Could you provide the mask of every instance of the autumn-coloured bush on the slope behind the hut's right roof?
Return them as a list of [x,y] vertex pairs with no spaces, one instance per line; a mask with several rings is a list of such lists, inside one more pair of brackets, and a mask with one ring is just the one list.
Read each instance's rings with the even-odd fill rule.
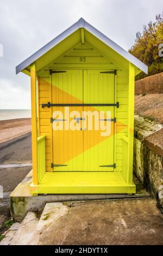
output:
[[[148,66],[148,76],[163,72],[163,13],[144,25],[142,33],[136,33],[135,44],[129,52]],[[146,76],[141,72],[136,80]]]

